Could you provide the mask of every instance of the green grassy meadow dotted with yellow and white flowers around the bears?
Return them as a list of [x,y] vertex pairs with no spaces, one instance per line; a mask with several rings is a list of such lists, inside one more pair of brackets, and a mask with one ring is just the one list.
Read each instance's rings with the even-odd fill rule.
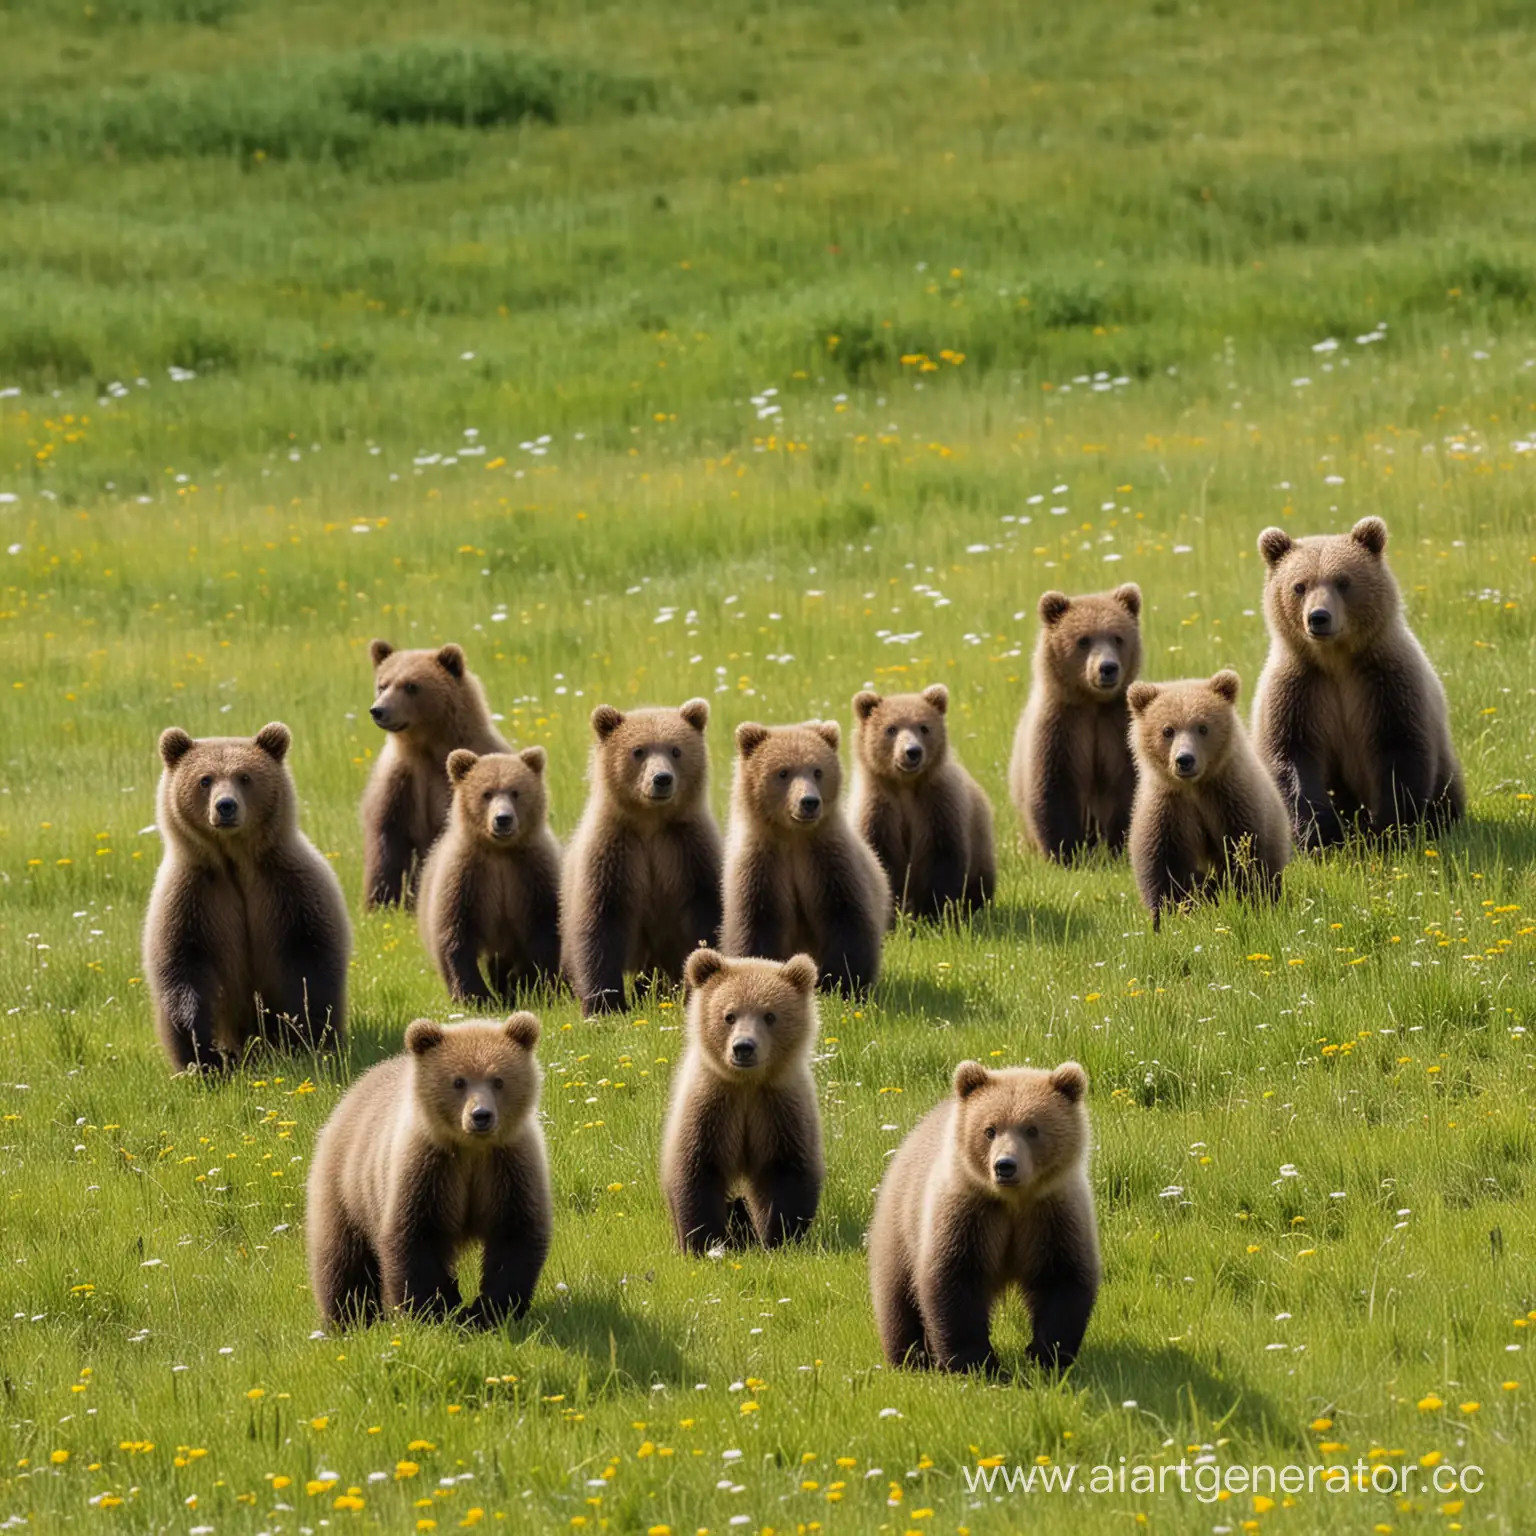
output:
[[[1533,71],[1499,0],[0,0],[0,1528],[1530,1528]],[[1020,852],[1041,590],[1138,581],[1149,676],[1250,688],[1255,536],[1367,513],[1467,825],[1157,937],[1123,865]],[[562,833],[602,700],[707,694],[723,814],[737,722],[949,685],[998,900],[823,1008],[802,1250],[673,1252],[679,1009],[551,997],[527,1322],[315,1332],[315,1132],[444,1017],[358,915],[375,634],[465,645]],[[155,737],[269,719],[358,917],[349,1061],[172,1081]],[[880,1367],[871,1192],[968,1055],[1092,1078],[1058,1382]],[[1200,1456],[1412,1473],[965,1476]]]

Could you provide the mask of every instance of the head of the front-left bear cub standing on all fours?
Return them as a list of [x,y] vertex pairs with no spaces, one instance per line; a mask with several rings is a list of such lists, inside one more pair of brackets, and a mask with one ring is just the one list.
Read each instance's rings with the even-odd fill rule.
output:
[[439,1146],[505,1146],[538,1112],[542,1074],[533,1051],[539,1021],[439,1025],[418,1018],[406,1031],[412,1092],[421,1124]]

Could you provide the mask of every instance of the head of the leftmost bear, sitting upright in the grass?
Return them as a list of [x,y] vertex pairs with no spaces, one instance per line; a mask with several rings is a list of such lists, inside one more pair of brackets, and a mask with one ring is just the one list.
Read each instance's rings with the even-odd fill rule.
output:
[[177,727],[161,733],[161,833],[227,851],[287,836],[298,814],[284,762],[290,742],[289,728],[275,720],[253,737],[194,740]]

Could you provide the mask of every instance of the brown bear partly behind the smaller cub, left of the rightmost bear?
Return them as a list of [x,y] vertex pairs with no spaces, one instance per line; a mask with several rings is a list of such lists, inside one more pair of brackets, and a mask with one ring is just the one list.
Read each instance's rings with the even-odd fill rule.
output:
[[1130,829],[1137,771],[1126,688],[1141,670],[1141,588],[1040,599],[1034,684],[1014,734],[1008,793],[1029,840],[1051,859]]

